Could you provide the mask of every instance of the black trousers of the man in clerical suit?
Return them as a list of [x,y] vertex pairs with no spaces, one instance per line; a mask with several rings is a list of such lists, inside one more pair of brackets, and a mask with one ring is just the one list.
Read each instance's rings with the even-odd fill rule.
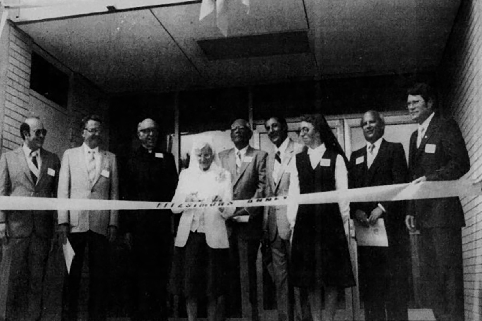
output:
[[170,231],[143,237],[134,235],[133,320],[167,320],[167,283],[171,268],[173,237]]

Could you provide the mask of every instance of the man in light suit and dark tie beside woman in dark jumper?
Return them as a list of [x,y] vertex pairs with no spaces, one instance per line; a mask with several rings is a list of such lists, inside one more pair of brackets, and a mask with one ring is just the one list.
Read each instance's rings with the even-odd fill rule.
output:
[[[269,140],[274,149],[268,155],[266,174],[270,196],[286,196],[290,187],[288,165],[295,161],[295,154],[303,150],[301,144],[288,137],[288,124],[282,117],[271,117],[265,122]],[[288,281],[291,229],[286,217],[286,206],[267,206],[263,220],[264,241],[271,248],[271,276],[276,286],[278,321],[293,320],[293,296]]]

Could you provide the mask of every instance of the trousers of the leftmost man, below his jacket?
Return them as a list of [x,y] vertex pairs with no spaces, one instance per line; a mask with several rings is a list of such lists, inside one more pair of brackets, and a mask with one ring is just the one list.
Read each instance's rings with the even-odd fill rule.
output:
[[[10,238],[2,246],[0,263],[0,320],[16,320],[23,315],[22,320],[35,321],[40,319],[42,282],[45,265],[49,254],[50,241],[31,234],[27,238]],[[25,259],[27,258],[27,262]],[[21,275],[22,267],[28,269],[27,304],[13,310],[15,303],[14,288]]]

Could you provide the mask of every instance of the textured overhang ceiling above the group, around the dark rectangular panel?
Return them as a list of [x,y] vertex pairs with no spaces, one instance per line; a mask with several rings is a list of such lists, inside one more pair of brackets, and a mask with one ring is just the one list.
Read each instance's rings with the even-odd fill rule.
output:
[[460,1],[251,0],[249,14],[228,3],[228,37],[306,31],[308,52],[209,60],[198,41],[226,39],[214,13],[199,21],[198,2],[19,27],[107,93],[166,92],[430,71]]

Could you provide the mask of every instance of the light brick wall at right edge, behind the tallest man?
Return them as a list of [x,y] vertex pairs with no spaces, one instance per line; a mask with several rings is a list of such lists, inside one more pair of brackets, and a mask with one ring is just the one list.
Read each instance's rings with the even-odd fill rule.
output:
[[[441,65],[441,102],[457,120],[469,150],[469,178],[482,179],[482,1],[462,1]],[[482,319],[482,197],[461,199],[466,320]]]

